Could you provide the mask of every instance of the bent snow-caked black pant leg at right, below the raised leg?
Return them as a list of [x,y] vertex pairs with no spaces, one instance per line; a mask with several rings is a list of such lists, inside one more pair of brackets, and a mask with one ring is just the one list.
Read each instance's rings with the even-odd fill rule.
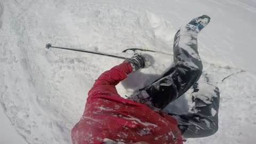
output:
[[193,85],[191,98],[194,106],[187,115],[172,115],[178,121],[179,129],[185,138],[207,137],[218,131],[220,92],[210,84],[207,75],[202,75]]

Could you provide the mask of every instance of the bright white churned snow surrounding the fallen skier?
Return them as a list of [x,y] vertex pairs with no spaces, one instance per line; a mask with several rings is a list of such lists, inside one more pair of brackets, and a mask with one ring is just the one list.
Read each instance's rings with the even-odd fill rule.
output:
[[[255,143],[255,0],[0,0],[0,143],[71,143],[94,79],[122,62],[46,50],[46,43],[126,56],[120,52],[129,47],[172,53],[175,32],[202,14],[212,18],[198,43],[221,91],[219,131],[186,143]],[[121,95],[171,65],[172,57],[149,54],[154,65],[119,84]]]

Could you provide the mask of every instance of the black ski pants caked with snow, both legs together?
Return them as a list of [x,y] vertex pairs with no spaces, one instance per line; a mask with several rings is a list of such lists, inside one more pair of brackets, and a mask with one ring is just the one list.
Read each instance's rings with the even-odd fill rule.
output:
[[178,30],[173,44],[174,65],[161,78],[140,90],[146,92],[148,97],[135,94],[130,98],[140,103],[150,103],[153,109],[163,109],[188,89],[194,89],[191,93],[194,106],[190,112],[185,115],[169,114],[177,119],[185,138],[207,137],[218,131],[220,93],[207,75],[202,75],[197,35],[191,29]]

